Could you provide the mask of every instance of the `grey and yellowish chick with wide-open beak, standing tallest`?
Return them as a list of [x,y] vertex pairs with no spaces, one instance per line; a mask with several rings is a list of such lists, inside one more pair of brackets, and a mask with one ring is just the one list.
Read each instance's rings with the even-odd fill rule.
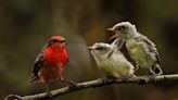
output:
[[110,33],[114,33],[110,39],[119,38],[122,40],[122,43],[118,46],[119,48],[126,42],[128,53],[136,62],[137,67],[150,68],[154,77],[163,74],[160,55],[154,42],[140,34],[135,25],[129,22],[122,22],[109,28],[109,30]]

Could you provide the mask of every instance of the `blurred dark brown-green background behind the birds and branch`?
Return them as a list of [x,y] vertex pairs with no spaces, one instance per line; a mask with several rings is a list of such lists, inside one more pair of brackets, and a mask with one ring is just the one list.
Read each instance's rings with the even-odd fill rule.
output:
[[[46,91],[27,85],[34,61],[52,35],[67,39],[65,78],[85,82],[104,77],[87,46],[107,42],[106,28],[122,21],[157,45],[165,74],[178,72],[177,0],[0,0],[0,100]],[[138,75],[150,74],[140,71]],[[66,86],[51,83],[51,89]],[[61,96],[54,100],[178,100],[178,82],[112,85]]]

